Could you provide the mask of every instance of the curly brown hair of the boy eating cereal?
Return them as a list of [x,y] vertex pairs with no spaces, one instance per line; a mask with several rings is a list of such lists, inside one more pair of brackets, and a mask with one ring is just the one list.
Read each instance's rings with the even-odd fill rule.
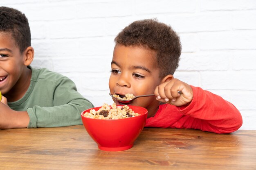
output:
[[115,37],[115,43],[124,46],[142,46],[156,52],[159,78],[174,74],[180,61],[180,37],[171,26],[156,19],[138,20],[126,26]]

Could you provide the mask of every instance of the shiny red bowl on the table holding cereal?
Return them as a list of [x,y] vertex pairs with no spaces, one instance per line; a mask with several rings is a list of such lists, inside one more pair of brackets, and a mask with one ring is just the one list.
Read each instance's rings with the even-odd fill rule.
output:
[[[122,107],[122,105],[117,105]],[[144,128],[148,110],[144,107],[129,106],[139,116],[124,119],[93,119],[83,116],[87,109],[81,113],[83,125],[99,149],[106,151],[121,151],[130,149],[134,141]],[[99,110],[101,107],[91,109]]]

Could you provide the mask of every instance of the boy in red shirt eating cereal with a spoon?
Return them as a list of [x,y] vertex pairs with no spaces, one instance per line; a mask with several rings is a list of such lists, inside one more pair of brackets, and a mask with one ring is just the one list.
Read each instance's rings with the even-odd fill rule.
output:
[[148,109],[145,127],[231,133],[242,126],[242,116],[230,102],[173,77],[181,44],[170,26],[156,20],[135,21],[117,35],[115,43],[110,93],[155,94],[131,103]]

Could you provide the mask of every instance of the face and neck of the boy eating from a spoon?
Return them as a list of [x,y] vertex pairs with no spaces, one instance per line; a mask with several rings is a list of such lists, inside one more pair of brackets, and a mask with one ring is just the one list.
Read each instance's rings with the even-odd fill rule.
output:
[[[159,68],[157,68],[155,51],[138,46],[116,45],[111,62],[109,89],[111,94],[134,96],[154,94],[155,87],[160,84]],[[114,100],[119,105],[121,103]],[[134,100],[131,105],[148,109],[148,117],[153,116],[159,101],[152,97]]]

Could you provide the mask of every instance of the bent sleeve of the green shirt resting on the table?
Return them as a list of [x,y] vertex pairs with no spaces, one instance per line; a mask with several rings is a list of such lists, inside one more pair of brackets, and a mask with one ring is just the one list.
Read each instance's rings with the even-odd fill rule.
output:
[[61,78],[55,86],[53,107],[27,108],[28,128],[81,125],[81,112],[94,107],[76,90],[69,78]]

